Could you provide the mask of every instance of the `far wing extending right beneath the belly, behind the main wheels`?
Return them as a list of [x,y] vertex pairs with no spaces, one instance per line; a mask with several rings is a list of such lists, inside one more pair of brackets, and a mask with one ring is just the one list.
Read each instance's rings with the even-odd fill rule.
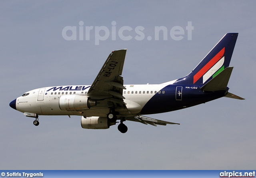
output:
[[[171,123],[171,122],[167,122],[167,121],[153,119],[153,118],[146,117],[146,116],[126,117],[125,120],[139,122],[139,123],[146,124],[146,125],[150,124],[150,125],[153,125],[153,126],[167,125],[167,124],[178,124],[178,123]],[[178,124],[178,125],[180,125],[180,124]]]

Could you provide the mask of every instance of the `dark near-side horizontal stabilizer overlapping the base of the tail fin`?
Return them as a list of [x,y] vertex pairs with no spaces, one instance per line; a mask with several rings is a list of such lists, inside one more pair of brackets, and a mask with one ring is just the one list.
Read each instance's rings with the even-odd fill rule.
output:
[[202,86],[201,89],[205,91],[226,90],[232,69],[233,67],[226,67],[226,69],[216,75],[216,77]]

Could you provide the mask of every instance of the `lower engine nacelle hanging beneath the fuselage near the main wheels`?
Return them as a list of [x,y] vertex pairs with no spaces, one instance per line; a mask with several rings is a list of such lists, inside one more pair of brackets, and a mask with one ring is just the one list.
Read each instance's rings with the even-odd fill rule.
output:
[[86,117],[82,116],[81,126],[84,129],[108,129],[111,125],[116,123],[110,123],[106,117]]

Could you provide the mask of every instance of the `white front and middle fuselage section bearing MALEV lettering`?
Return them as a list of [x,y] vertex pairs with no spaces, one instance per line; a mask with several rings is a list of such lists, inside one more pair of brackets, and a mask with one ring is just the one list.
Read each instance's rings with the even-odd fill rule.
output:
[[[167,84],[159,85],[124,85],[123,90],[124,102],[128,109],[120,109],[117,111],[123,115],[136,115],[140,113],[144,105]],[[109,108],[106,102],[100,101],[97,107],[92,107],[84,111],[62,111],[59,106],[59,99],[64,95],[86,95],[90,85],[73,85],[73,86],[57,86],[44,87],[26,92],[24,95],[16,99],[16,109],[23,113],[36,113],[37,115],[86,115],[106,117]],[[27,94],[29,93],[29,94]],[[100,107],[104,105],[104,107]]]

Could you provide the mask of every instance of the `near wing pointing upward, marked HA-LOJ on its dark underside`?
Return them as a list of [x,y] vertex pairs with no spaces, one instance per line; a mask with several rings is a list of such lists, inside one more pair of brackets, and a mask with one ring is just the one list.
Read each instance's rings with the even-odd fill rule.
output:
[[122,75],[127,49],[112,51],[92,83],[87,95],[92,99],[107,99],[124,104],[122,95],[124,80]]

